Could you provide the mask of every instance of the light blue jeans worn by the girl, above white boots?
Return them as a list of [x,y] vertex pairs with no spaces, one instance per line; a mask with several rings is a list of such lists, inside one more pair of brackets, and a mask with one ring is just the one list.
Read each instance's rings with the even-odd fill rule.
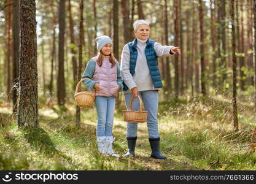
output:
[[96,96],[95,104],[98,116],[97,136],[112,136],[115,97]]

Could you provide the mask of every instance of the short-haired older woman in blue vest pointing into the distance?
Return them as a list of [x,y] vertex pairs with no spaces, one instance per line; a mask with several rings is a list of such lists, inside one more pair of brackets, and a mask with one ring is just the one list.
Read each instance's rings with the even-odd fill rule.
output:
[[[158,132],[158,90],[163,87],[157,57],[180,54],[179,47],[162,46],[149,39],[149,23],[137,20],[133,24],[136,38],[123,47],[121,55],[121,74],[123,77],[126,109],[132,97],[132,110],[139,110],[138,95],[141,96],[147,115],[147,129],[152,150],[151,157],[166,159],[160,152],[160,137]],[[138,123],[127,123],[126,139],[128,152],[125,156],[134,156],[137,140]]]

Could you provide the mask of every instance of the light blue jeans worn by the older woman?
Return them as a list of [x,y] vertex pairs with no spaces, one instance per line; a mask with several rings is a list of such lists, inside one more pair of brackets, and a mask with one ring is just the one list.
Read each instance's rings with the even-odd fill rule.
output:
[[[130,99],[132,98],[132,93],[125,93],[125,104],[126,109],[129,108]],[[139,96],[142,99],[145,110],[147,110],[147,132],[149,133],[149,138],[158,138],[158,92],[157,91],[139,91]],[[139,98],[133,100],[131,105],[132,110],[139,110]],[[137,137],[138,123],[127,123],[126,137]]]

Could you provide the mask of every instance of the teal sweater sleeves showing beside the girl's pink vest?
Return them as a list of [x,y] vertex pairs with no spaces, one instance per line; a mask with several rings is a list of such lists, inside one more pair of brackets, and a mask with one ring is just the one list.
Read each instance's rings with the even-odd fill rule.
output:
[[[93,78],[93,74],[95,72],[95,61],[93,61],[93,59],[90,59],[90,61],[88,61],[87,66],[85,68],[85,71],[83,72],[83,76],[82,79],[88,78],[89,80],[85,80],[83,81],[83,85],[87,86],[90,90],[95,90],[95,88],[93,87],[95,85],[95,83],[97,82],[96,80],[91,80]],[[120,72],[120,66],[118,64],[118,62],[115,62],[115,64],[117,65],[117,85],[120,86],[120,89],[118,91],[122,91],[123,90],[123,79],[121,76],[121,72]]]

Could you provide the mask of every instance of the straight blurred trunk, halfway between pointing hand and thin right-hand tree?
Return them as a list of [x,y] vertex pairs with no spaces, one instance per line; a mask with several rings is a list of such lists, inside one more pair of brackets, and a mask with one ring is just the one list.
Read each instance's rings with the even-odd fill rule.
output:
[[200,20],[200,58],[201,58],[201,93],[206,96],[206,75],[204,66],[204,13],[203,1],[199,0],[199,20]]

